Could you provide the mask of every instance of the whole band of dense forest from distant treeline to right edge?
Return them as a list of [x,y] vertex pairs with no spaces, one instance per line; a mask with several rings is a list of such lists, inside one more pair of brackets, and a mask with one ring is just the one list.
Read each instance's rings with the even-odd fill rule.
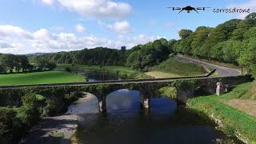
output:
[[148,70],[150,66],[166,60],[172,52],[190,54],[199,58],[229,62],[246,66],[251,74],[256,71],[256,13],[245,19],[231,19],[214,28],[199,26],[192,30],[180,30],[179,40],[164,38],[126,50],[108,48],[84,49],[56,54],[44,54],[40,58],[57,63],[77,63],[86,65],[121,65],[134,70]]

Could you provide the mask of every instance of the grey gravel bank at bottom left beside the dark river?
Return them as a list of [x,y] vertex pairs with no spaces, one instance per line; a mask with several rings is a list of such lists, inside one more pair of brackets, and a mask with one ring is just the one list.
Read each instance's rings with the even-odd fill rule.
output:
[[71,143],[70,138],[78,128],[75,114],[63,114],[56,117],[42,118],[22,139],[20,144],[30,143]]

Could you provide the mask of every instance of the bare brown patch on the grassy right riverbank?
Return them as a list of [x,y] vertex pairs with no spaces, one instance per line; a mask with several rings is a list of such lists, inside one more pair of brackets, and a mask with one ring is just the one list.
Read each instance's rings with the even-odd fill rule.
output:
[[246,114],[256,116],[256,101],[246,99],[231,99],[228,105],[246,112]]

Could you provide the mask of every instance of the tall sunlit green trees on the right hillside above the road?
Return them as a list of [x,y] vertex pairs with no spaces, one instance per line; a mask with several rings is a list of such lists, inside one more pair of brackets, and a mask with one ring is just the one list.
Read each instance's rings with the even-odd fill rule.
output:
[[240,64],[255,76],[256,13],[244,20],[231,19],[214,28],[199,26],[194,32],[181,30],[179,34],[182,39],[171,44],[174,52]]

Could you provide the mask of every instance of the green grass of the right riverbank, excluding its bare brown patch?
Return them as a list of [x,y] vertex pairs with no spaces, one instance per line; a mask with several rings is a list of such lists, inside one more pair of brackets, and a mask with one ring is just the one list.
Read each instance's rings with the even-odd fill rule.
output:
[[198,98],[191,98],[188,106],[193,110],[198,110],[203,114],[211,116],[214,114],[221,118],[223,127],[221,128],[226,134],[234,136],[234,132],[242,134],[248,138],[251,143],[256,142],[256,117],[250,116],[241,110],[228,106],[226,102],[233,98],[250,98],[251,83],[242,84],[230,93],[210,95]]

